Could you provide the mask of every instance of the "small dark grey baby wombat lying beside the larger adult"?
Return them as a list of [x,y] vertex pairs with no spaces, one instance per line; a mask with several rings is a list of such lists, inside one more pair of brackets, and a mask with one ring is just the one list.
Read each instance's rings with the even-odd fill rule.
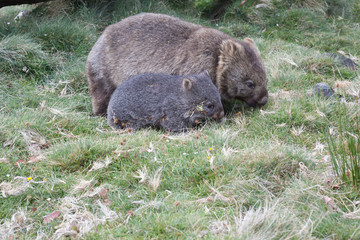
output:
[[110,126],[134,130],[151,126],[179,132],[223,116],[220,94],[206,72],[137,75],[114,91],[107,109]]

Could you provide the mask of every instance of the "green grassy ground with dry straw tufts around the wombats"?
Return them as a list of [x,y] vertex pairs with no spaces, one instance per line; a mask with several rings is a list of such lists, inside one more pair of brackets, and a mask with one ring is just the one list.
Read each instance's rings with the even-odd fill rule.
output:
[[[359,72],[323,54],[359,60],[360,5],[241,2],[217,22],[163,1],[1,9],[0,239],[359,239],[359,192],[327,144],[359,136]],[[254,38],[269,103],[229,104],[222,124],[179,135],[91,116],[87,54],[141,11]],[[313,96],[318,82],[342,100]]]

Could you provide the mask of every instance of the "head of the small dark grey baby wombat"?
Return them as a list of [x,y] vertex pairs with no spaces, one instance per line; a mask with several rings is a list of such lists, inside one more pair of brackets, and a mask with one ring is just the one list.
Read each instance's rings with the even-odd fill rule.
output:
[[182,87],[186,104],[190,106],[190,110],[184,115],[189,127],[194,127],[209,118],[220,121],[224,117],[220,93],[207,72],[186,76],[182,81]]

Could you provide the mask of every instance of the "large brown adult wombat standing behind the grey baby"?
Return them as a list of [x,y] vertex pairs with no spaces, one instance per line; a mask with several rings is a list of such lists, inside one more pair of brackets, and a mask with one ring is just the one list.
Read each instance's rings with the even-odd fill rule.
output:
[[92,48],[86,75],[93,112],[106,113],[112,92],[131,76],[154,72],[172,75],[207,70],[222,100],[249,106],[268,100],[267,79],[253,40],[237,41],[211,28],[153,13],[110,25]]

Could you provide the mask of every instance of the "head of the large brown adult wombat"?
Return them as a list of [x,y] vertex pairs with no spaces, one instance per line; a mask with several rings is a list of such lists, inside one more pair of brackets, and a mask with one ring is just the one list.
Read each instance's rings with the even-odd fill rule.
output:
[[267,103],[265,67],[253,40],[222,42],[216,85],[225,101],[239,99],[251,107]]

